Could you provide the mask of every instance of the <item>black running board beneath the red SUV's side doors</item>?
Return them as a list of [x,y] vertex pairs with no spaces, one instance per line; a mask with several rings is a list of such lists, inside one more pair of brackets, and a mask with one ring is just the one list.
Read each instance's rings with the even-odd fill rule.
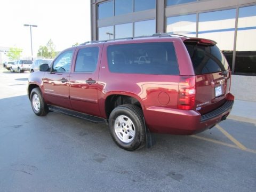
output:
[[67,115],[70,115],[70,116],[86,119],[86,120],[94,122],[94,123],[108,123],[107,119],[100,118],[100,117],[95,117],[95,116],[87,115],[87,114],[83,114],[83,113],[79,113],[79,112],[74,111],[74,110],[69,110],[69,109],[65,109],[65,108],[57,107],[57,106],[52,106],[52,105],[48,105],[48,107],[49,107],[49,110],[51,110],[51,111],[55,111],[55,112],[58,112],[58,113],[67,114]]

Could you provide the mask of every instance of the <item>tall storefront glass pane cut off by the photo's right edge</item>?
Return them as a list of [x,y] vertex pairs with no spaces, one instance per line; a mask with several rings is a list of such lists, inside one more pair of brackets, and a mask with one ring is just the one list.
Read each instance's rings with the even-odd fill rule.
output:
[[239,8],[235,73],[256,74],[256,5]]

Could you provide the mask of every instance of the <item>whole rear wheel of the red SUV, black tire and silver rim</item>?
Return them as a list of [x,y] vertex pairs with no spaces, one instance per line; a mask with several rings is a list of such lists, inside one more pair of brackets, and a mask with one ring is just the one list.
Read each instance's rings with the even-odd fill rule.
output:
[[109,116],[109,131],[122,149],[132,151],[143,147],[146,133],[142,110],[131,104],[116,107]]

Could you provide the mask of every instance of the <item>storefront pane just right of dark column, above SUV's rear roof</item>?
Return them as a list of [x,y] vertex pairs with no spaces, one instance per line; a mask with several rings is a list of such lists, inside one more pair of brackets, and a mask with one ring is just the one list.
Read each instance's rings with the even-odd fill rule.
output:
[[196,14],[182,15],[167,18],[166,32],[185,35],[189,37],[196,36]]

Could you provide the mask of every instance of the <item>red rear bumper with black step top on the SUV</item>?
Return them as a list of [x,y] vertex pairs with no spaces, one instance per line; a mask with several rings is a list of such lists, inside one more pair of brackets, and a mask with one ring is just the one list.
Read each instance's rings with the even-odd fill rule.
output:
[[144,111],[147,127],[151,132],[190,135],[210,129],[227,118],[234,100],[227,100],[222,106],[201,115],[196,110],[149,107]]

